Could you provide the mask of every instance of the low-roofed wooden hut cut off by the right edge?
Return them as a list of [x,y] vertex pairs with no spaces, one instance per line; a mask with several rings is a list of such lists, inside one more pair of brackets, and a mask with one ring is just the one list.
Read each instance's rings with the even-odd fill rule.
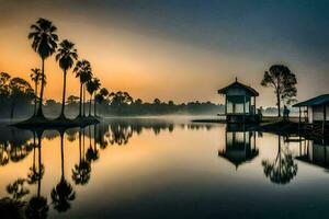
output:
[[293,106],[299,108],[299,124],[310,125],[307,127],[325,134],[329,120],[329,94],[319,95]]

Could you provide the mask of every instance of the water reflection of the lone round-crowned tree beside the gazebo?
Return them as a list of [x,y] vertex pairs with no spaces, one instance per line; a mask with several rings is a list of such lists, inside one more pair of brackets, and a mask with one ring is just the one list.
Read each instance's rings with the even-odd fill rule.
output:
[[287,184],[297,174],[297,163],[294,163],[293,154],[287,149],[281,149],[281,136],[279,136],[277,155],[273,162],[262,161],[264,174],[271,182]]

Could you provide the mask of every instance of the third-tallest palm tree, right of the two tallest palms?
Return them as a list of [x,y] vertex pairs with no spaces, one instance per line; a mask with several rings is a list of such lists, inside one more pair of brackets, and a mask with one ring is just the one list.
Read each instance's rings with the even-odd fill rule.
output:
[[[88,81],[92,79],[92,71],[91,71],[91,65],[88,60],[79,60],[76,64],[76,67],[73,69],[73,72],[76,72],[76,78],[79,78],[80,80],[80,104],[79,104],[79,116],[82,116],[82,89],[83,84],[86,84]],[[83,90],[84,91],[84,90]],[[84,100],[83,100],[84,103]],[[83,115],[84,115],[84,107],[83,107]]]

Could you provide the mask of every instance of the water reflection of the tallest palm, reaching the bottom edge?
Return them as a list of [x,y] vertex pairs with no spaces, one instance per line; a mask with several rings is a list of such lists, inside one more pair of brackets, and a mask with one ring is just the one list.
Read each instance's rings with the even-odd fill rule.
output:
[[37,194],[32,196],[29,200],[25,209],[26,218],[43,219],[47,218],[48,215],[48,201],[46,197],[41,196],[41,183],[44,175],[44,165],[42,164],[42,153],[41,153],[41,135],[38,135],[38,172],[36,174],[37,181]]

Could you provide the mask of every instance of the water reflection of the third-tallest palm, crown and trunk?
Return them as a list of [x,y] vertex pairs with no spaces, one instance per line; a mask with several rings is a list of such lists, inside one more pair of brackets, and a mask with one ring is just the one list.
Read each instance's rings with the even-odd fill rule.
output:
[[[82,154],[84,154],[84,149]],[[90,180],[90,163],[84,160],[84,155],[83,158],[81,155],[81,130],[79,130],[79,164],[76,164],[72,170],[72,180],[77,185],[84,185]]]

